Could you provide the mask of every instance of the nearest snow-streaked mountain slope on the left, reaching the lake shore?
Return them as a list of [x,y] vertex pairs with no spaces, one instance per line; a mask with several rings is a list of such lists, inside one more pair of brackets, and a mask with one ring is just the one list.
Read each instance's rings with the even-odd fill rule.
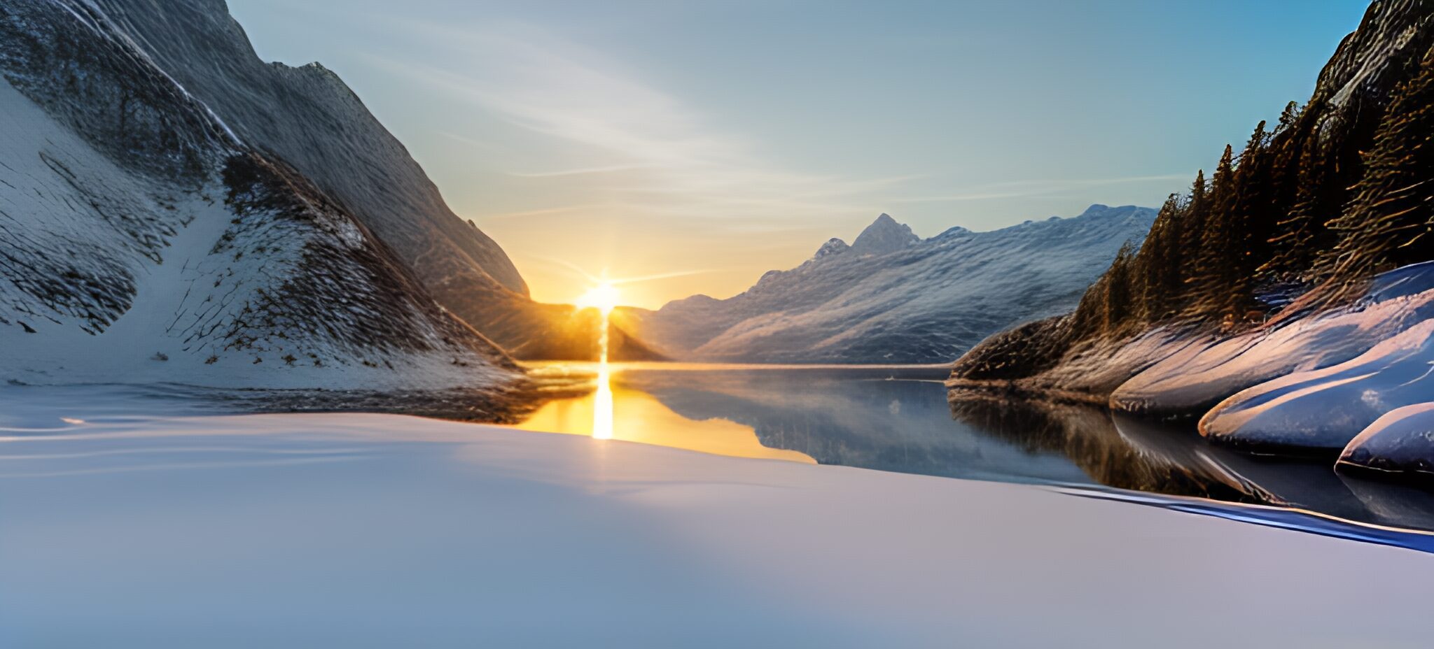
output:
[[92,4],[0,4],[7,380],[499,387],[326,191],[245,143]]

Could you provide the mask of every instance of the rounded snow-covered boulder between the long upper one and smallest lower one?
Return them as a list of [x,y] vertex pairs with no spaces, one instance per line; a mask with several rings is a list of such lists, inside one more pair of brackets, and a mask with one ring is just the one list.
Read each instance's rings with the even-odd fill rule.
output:
[[1240,391],[1200,420],[1200,433],[1240,447],[1335,451],[1385,413],[1431,397],[1434,319],[1427,319],[1349,361]]

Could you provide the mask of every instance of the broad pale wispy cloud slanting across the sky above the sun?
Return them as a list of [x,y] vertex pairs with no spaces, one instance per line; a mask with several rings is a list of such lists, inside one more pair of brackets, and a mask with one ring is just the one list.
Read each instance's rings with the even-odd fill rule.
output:
[[[787,169],[761,146],[713,120],[602,52],[531,24],[455,29],[406,23],[455,50],[452,67],[396,59],[380,64],[518,126],[584,165],[509,170],[525,179],[602,182],[618,202],[675,216],[783,216],[850,209],[912,176],[837,178]],[[465,63],[480,60],[482,66]]]

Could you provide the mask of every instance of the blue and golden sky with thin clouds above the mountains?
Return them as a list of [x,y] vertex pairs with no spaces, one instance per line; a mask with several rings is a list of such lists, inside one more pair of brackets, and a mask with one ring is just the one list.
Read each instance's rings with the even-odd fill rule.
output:
[[334,69],[509,252],[734,294],[889,212],[922,236],[1157,206],[1315,76],[1367,3],[229,0]]

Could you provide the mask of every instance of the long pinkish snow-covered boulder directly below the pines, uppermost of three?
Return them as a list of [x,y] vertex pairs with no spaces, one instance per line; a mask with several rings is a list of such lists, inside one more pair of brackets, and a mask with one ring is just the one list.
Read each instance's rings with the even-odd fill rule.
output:
[[[1172,340],[1162,358],[1123,383],[1110,407],[1139,414],[1189,414],[1289,374],[1331,367],[1434,318],[1434,264],[1380,275],[1355,305],[1232,338]],[[1149,345],[1147,345],[1149,347]]]

